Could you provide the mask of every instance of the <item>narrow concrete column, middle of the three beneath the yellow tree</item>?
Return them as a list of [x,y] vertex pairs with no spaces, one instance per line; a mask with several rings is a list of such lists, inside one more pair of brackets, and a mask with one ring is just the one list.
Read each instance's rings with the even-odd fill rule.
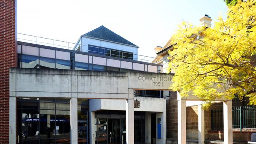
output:
[[198,144],[204,144],[204,110],[198,105]]

